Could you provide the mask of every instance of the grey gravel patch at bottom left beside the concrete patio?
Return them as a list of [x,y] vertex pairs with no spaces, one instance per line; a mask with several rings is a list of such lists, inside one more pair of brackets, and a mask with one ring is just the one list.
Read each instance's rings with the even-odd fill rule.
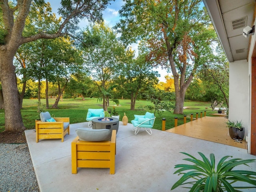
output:
[[39,192],[27,144],[0,144],[0,192]]

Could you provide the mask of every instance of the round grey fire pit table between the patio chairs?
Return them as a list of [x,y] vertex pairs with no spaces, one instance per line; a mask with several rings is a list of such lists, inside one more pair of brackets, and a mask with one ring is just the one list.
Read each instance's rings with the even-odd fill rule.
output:
[[92,119],[92,129],[110,129],[118,132],[119,119],[114,117],[100,117]]

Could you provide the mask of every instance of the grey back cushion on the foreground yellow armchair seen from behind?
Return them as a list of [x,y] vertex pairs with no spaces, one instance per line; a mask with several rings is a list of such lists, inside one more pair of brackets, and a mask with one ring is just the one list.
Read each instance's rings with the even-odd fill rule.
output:
[[109,129],[78,128],[76,134],[82,141],[109,141],[111,139]]

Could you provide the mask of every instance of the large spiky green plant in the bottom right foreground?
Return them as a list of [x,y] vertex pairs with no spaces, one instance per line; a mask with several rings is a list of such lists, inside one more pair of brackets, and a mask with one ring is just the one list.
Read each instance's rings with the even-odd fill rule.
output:
[[[239,192],[239,188],[254,188],[256,186],[256,172],[246,170],[232,170],[238,165],[246,165],[254,162],[255,159],[242,160],[232,156],[224,156],[215,167],[214,154],[210,154],[210,160],[204,154],[198,152],[202,160],[198,160],[190,154],[181,152],[189,156],[183,160],[193,164],[177,164],[174,168],[179,168],[174,174],[182,174],[182,177],[172,186],[171,190],[181,185],[192,185],[190,192]],[[233,186],[235,182],[246,182],[251,184],[247,187]]]

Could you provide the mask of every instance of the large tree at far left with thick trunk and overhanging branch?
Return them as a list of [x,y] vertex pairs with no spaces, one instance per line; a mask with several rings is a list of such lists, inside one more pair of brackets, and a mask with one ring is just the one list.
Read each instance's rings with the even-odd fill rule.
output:
[[[25,129],[13,66],[13,59],[18,48],[24,43],[40,38],[57,38],[64,36],[68,31],[74,32],[79,22],[78,19],[102,20],[101,11],[106,8],[109,0],[62,0],[62,6],[59,9],[62,23],[58,25],[56,32],[45,32],[42,24],[42,28],[38,26],[38,30],[31,31],[31,34],[24,34],[24,28],[28,24],[26,18],[30,13],[31,2],[32,0],[16,0],[14,2],[0,0],[0,78],[5,104],[5,130],[8,131]],[[44,0],[34,2],[37,6],[45,4]]]

